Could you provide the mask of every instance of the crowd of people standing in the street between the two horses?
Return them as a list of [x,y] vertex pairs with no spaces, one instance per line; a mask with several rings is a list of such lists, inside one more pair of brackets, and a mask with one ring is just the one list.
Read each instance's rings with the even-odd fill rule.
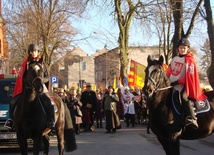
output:
[[[144,94],[138,87],[115,91],[109,86],[103,91],[93,91],[87,83],[83,91],[74,88],[55,91],[70,110],[76,134],[104,127],[106,133],[115,133],[121,128],[121,120],[126,122],[127,128],[148,123]],[[82,115],[77,110],[81,110]]]

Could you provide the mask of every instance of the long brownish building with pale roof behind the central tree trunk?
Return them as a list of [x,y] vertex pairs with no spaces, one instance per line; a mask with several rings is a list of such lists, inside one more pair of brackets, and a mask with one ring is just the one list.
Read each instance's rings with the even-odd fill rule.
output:
[[[162,53],[158,46],[144,46],[144,47],[129,47],[129,64],[131,59],[147,66],[147,57],[151,55],[153,58],[159,58]],[[94,54],[95,62],[95,81],[97,88],[107,88],[113,85],[116,80],[117,85],[120,83],[120,57],[119,48],[112,50],[101,50]],[[129,70],[127,71],[129,74]]]

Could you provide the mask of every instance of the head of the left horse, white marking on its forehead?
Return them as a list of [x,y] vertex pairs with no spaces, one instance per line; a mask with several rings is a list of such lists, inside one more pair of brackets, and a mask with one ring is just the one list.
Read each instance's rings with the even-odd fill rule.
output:
[[36,95],[43,93],[43,76],[44,70],[42,59],[39,61],[32,61],[28,64],[26,72],[26,85],[33,89]]

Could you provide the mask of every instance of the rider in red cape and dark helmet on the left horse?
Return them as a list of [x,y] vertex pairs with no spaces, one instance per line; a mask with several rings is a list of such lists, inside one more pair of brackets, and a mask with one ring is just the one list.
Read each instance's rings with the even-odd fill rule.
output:
[[[30,62],[39,61],[39,59],[41,58],[39,47],[35,44],[30,44],[28,46],[28,54],[29,56],[22,63],[22,66],[19,70],[19,75],[16,79],[16,84],[13,92],[13,99],[10,103],[10,118],[5,122],[4,125],[8,129],[12,129],[14,125],[13,113],[24,88],[23,77],[25,75],[26,70],[28,69],[28,64]],[[46,94],[48,92],[47,88],[49,87],[49,74],[45,66],[45,63],[43,63],[43,67],[44,67],[44,77],[43,77],[44,95],[42,95],[40,99],[47,115],[47,128],[44,130],[43,133],[47,133],[51,130],[52,127],[54,127],[54,106],[52,105],[50,98]]]

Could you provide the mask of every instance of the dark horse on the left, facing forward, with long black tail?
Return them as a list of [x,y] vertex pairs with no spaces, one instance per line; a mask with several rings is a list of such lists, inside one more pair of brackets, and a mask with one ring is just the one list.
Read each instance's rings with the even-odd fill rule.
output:
[[[46,114],[40,100],[40,95],[43,94],[43,75],[41,59],[39,62],[30,63],[26,70],[26,75],[23,77],[24,89],[14,112],[14,125],[22,155],[28,154],[27,139],[33,140],[34,155],[39,154],[42,141],[44,155],[49,152],[49,138],[47,135],[42,136],[46,128]],[[73,151],[76,148],[74,146],[76,143],[71,142],[75,141],[73,130],[65,128],[65,122],[67,122],[65,121],[66,106],[56,94],[53,96],[53,100],[57,107],[55,130],[58,140],[58,152],[62,155],[64,148],[67,151]],[[72,124],[71,118],[70,123]],[[72,137],[73,140],[69,140],[67,137]]]

